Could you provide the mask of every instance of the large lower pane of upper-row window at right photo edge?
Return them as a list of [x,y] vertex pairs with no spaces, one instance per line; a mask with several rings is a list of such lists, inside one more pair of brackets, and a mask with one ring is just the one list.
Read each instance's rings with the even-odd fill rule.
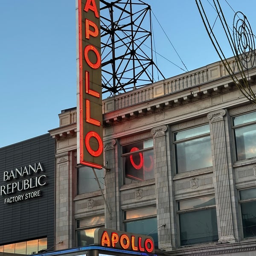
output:
[[237,160],[256,157],[256,124],[235,129]]

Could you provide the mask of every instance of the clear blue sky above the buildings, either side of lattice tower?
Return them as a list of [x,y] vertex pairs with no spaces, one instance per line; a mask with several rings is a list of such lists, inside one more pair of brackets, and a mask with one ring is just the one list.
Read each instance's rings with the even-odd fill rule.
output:
[[[219,61],[195,0],[144,2],[153,12],[154,61],[166,78]],[[230,26],[241,11],[256,33],[255,1],[220,3]],[[76,106],[75,6],[75,0],[0,0],[0,147],[57,128],[61,110]],[[214,21],[214,9],[207,10]]]

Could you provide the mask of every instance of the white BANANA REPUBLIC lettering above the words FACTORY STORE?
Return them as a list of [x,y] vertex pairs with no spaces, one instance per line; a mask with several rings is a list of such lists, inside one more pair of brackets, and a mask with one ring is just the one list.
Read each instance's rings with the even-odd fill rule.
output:
[[[16,168],[9,172],[3,172],[3,181],[13,181],[21,177],[30,176],[33,174],[40,174],[41,172],[44,172],[44,169],[39,162],[33,165]],[[43,174],[35,177],[27,177],[23,180],[10,182],[6,185],[0,186],[0,195],[4,196],[13,194],[17,191],[24,191],[28,189],[38,188],[40,186],[45,186],[47,184],[46,178],[47,176]]]

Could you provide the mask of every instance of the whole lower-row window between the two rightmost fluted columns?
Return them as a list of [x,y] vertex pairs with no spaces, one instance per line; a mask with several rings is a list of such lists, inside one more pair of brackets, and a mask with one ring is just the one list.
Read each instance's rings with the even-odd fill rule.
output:
[[214,196],[178,202],[180,245],[218,241]]

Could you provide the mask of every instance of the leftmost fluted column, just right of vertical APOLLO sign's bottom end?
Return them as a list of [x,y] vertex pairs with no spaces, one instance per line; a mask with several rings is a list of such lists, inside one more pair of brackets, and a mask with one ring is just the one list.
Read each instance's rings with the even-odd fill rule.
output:
[[105,176],[105,195],[108,208],[105,207],[105,227],[116,229],[116,181],[115,181],[115,140],[104,142],[105,162],[107,166]]

